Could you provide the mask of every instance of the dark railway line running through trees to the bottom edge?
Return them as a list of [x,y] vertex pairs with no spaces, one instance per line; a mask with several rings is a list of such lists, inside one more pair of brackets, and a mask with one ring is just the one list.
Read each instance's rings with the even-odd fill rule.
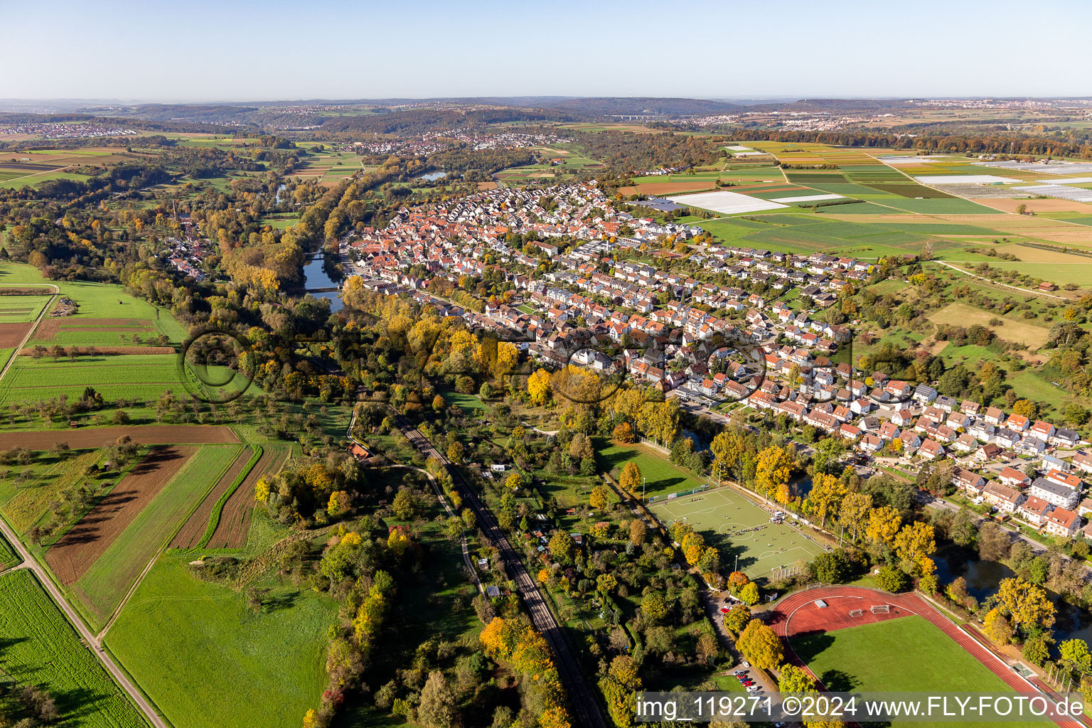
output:
[[[394,410],[392,409],[392,411]],[[538,590],[538,585],[527,574],[527,570],[523,568],[523,562],[520,561],[515,549],[508,542],[505,533],[497,525],[492,513],[490,513],[489,509],[486,508],[485,503],[482,502],[470,485],[463,480],[459,470],[451,467],[451,462],[425,435],[411,427],[397,414],[393,416],[394,422],[402,431],[402,434],[423,455],[435,457],[448,469],[463,497],[463,503],[474,512],[477,525],[489,542],[497,547],[505,562],[505,572],[515,583],[520,598],[531,614],[531,621],[534,623],[535,629],[546,639],[546,642],[549,643],[550,649],[554,651],[558,676],[561,678],[561,684],[565,685],[566,692],[569,694],[569,702],[572,704],[572,709],[575,714],[572,724],[580,726],[580,728],[607,728],[606,723],[603,720],[603,714],[600,713],[595,694],[589,687],[589,680],[579,667],[580,663],[577,655],[566,640],[561,628],[554,619],[554,612],[546,606],[542,593]]]

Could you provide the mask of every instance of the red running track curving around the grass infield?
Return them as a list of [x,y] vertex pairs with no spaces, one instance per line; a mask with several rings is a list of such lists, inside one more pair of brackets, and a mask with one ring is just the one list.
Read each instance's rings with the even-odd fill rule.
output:
[[[977,641],[972,640],[963,632],[961,632],[947,617],[941,614],[933,605],[923,599],[916,594],[888,594],[886,592],[880,592],[878,589],[868,589],[860,586],[826,586],[815,589],[806,589],[804,592],[796,592],[786,596],[778,606],[773,608],[770,618],[770,626],[773,631],[778,633],[778,636],[785,641],[788,647],[788,658],[793,664],[803,667],[808,670],[808,673],[812,678],[816,678],[816,682],[819,679],[811,672],[807,665],[805,665],[796,653],[793,651],[792,643],[788,642],[788,637],[797,634],[799,632],[811,631],[815,628],[815,620],[809,619],[808,624],[805,629],[794,629],[793,628],[793,614],[802,607],[807,607],[811,605],[816,599],[826,599],[830,605],[827,609],[829,610],[831,617],[831,623],[829,630],[839,630],[844,626],[845,619],[844,613],[847,611],[846,601],[858,601],[859,604],[854,604],[851,609],[864,609],[866,613],[869,613],[868,608],[871,605],[889,604],[894,609],[892,609],[892,614],[899,616],[897,612],[917,614],[924,619],[933,622],[941,632],[947,634],[949,637],[956,641],[960,647],[969,652],[975,659],[985,665],[989,670],[1005,681],[1012,690],[1017,692],[1026,693],[1029,692],[1028,683],[1020,678],[1019,675],[1010,669],[1007,669],[994,653],[989,652],[983,647]],[[1032,678],[1032,684],[1035,685],[1042,692],[1049,693],[1051,690],[1038,679]],[[820,685],[822,683],[819,683]],[[1063,720],[1055,719],[1055,723],[1065,728],[1088,728],[1085,724],[1079,723],[1077,720]]]

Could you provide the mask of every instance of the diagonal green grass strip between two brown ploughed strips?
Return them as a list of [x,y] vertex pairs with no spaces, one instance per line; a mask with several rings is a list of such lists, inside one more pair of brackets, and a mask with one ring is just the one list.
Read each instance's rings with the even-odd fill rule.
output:
[[78,606],[95,630],[117,609],[155,552],[235,461],[241,445],[202,445],[117,540],[72,585]]

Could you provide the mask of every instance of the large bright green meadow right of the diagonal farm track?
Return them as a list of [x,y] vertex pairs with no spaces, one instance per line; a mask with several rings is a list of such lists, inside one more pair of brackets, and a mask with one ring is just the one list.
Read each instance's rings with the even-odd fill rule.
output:
[[256,614],[245,594],[191,576],[192,558],[159,558],[106,645],[175,728],[299,725],[327,685],[337,604],[277,585]]

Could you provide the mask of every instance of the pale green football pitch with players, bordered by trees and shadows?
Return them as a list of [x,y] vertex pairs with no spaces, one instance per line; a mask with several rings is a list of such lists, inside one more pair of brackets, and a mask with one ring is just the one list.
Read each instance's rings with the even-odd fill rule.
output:
[[731,488],[717,488],[649,505],[665,525],[685,521],[721,549],[721,564],[751,580],[778,575],[798,561],[811,561],[826,549],[805,536],[792,520],[770,523],[770,513]]

